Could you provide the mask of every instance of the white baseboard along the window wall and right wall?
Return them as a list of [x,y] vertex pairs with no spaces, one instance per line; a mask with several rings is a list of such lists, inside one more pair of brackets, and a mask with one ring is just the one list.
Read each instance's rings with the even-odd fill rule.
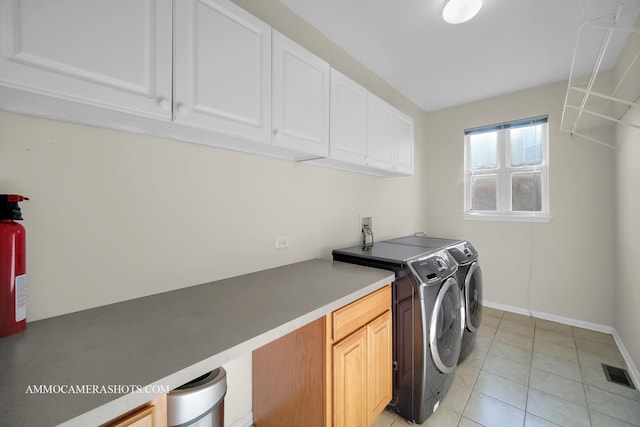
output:
[[631,358],[629,351],[625,347],[624,342],[622,341],[622,338],[618,334],[618,331],[616,331],[616,329],[613,326],[601,325],[599,323],[585,322],[583,320],[572,319],[570,317],[558,316],[555,314],[544,313],[541,311],[528,310],[526,308],[514,307],[506,304],[498,304],[491,301],[483,301],[482,305],[489,308],[495,308],[496,310],[509,311],[511,313],[523,314],[525,316],[531,316],[531,317],[535,317],[543,320],[551,320],[553,322],[563,323],[569,326],[576,326],[578,328],[584,328],[584,329],[589,329],[591,331],[603,332],[605,334],[613,335],[613,339],[615,340],[616,345],[618,346],[618,350],[620,350],[620,353],[622,354],[622,357],[624,358],[624,361],[627,364],[627,370],[629,371],[629,375],[631,376],[631,379],[633,380],[634,385],[636,387],[640,386],[640,372],[638,371],[637,366],[633,362],[633,359]]

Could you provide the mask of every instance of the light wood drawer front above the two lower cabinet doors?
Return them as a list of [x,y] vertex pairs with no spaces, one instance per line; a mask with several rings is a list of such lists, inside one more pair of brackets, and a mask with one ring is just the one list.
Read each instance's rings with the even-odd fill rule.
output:
[[338,342],[391,307],[391,286],[387,285],[332,314],[333,342]]

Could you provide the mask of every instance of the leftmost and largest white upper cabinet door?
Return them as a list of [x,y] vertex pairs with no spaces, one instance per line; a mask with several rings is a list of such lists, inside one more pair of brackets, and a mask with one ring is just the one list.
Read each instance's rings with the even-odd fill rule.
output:
[[0,85],[171,118],[171,0],[0,0]]

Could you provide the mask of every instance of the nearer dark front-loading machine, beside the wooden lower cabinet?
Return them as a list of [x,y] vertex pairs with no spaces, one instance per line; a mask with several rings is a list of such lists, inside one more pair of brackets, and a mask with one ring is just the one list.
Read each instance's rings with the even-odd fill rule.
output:
[[333,259],[395,272],[389,408],[423,423],[449,391],[460,355],[464,307],[457,263],[446,250],[385,242],[334,250]]

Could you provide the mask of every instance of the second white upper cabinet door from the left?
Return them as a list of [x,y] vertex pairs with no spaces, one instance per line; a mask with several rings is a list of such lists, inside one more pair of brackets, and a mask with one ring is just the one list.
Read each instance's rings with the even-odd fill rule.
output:
[[174,120],[271,141],[271,28],[228,0],[179,0]]

